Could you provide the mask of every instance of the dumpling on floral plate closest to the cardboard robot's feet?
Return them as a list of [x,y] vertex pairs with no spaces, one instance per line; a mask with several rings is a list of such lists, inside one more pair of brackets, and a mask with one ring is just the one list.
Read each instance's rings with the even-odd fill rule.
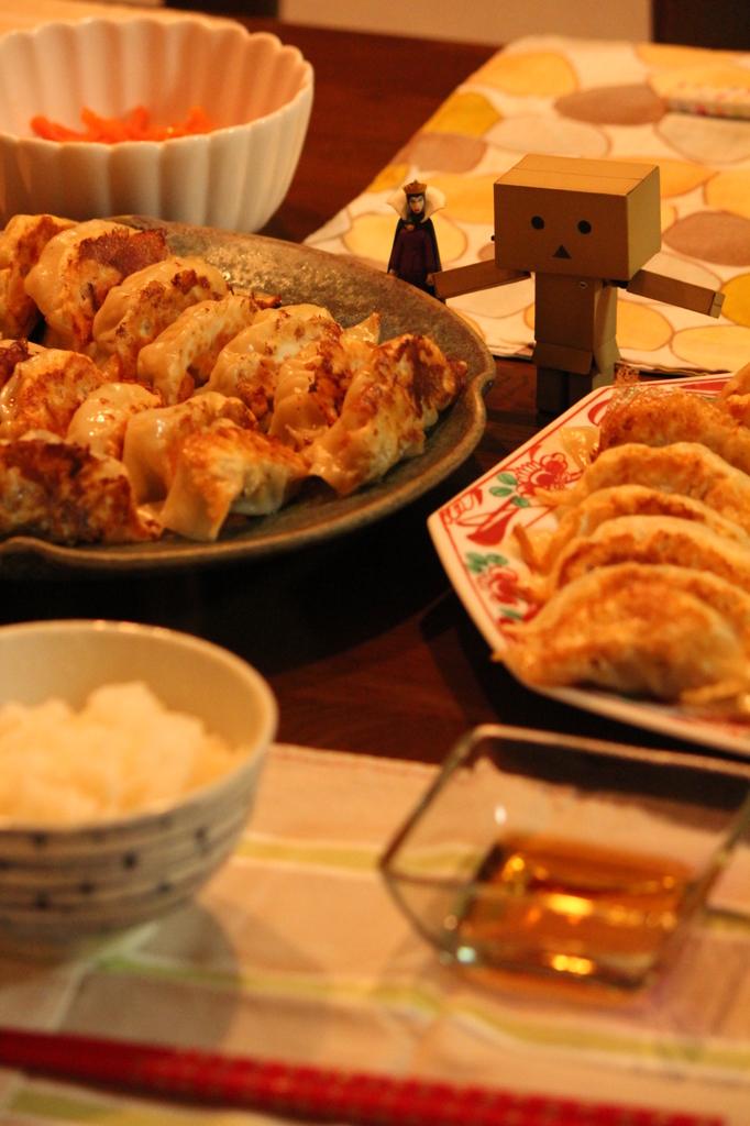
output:
[[599,449],[625,443],[669,446],[696,441],[730,465],[750,472],[750,430],[726,411],[681,387],[627,387],[616,391],[599,428]]

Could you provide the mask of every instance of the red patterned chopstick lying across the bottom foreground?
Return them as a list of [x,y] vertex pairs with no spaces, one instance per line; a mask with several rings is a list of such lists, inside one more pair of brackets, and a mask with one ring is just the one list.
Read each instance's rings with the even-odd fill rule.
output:
[[63,1033],[0,1030],[0,1064],[56,1078],[354,1126],[722,1126],[479,1087],[267,1063]]

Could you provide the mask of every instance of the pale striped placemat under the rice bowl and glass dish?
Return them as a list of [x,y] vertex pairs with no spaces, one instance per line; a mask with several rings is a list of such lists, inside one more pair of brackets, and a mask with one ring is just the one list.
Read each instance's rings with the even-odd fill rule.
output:
[[[449,1079],[750,1121],[750,922],[696,928],[651,1001],[573,1009],[444,968],[376,867],[435,768],[277,747],[233,859],[198,899],[78,960],[0,960],[0,1026]],[[715,905],[750,903],[750,851]],[[2,1126],[230,1126],[0,1071]]]

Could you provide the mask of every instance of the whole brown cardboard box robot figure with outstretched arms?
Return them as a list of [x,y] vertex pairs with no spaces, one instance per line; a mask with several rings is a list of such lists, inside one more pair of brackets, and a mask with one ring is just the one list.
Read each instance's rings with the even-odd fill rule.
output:
[[642,267],[661,249],[659,168],[524,157],[494,185],[494,261],[434,275],[438,297],[536,275],[536,405],[614,379],[617,289],[718,316],[724,295]]

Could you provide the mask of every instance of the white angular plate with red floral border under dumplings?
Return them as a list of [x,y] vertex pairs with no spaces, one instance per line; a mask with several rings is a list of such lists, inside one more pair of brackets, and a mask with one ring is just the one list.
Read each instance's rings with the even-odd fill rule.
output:
[[[680,387],[714,396],[729,375],[680,379]],[[673,386],[675,379],[655,385]],[[654,384],[651,384],[654,385]],[[530,441],[495,465],[452,501],[434,512],[428,527],[448,578],[466,610],[492,649],[507,649],[506,627],[530,617],[534,608],[518,596],[517,580],[528,574],[512,531],[517,525],[554,529],[556,520],[535,495],[537,488],[566,489],[583,472],[565,444],[563,430],[596,427],[613,387],[591,392]],[[702,720],[677,705],[627,699],[595,688],[534,688],[588,712],[606,715],[675,739],[685,739],[750,757],[750,726]]]

